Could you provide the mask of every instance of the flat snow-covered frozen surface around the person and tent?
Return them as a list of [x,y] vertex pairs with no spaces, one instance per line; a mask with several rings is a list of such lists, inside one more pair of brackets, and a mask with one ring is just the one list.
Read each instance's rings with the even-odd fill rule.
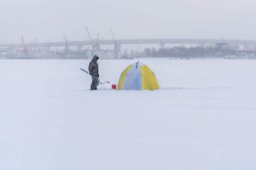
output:
[[256,61],[142,61],[159,91],[89,91],[88,62],[0,60],[1,170],[256,169]]

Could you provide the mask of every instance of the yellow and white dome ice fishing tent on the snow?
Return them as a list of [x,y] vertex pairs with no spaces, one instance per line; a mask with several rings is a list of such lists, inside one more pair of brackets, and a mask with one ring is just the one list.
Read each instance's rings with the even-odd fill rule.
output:
[[156,90],[159,89],[154,72],[145,64],[136,62],[122,72],[118,90]]

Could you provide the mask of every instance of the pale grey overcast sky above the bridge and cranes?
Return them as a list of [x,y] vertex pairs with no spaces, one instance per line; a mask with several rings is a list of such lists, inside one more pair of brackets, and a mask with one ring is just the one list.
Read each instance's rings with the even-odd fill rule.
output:
[[0,43],[111,38],[256,40],[255,0],[0,0]]

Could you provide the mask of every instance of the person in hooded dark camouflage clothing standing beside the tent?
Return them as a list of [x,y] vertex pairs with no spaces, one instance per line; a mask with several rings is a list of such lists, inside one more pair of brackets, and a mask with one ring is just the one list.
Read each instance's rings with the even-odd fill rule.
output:
[[99,57],[97,55],[93,56],[92,61],[89,64],[89,72],[92,76],[92,84],[91,84],[91,90],[97,90],[97,86],[100,84],[99,80],[99,66],[97,64],[97,60],[99,60]]

